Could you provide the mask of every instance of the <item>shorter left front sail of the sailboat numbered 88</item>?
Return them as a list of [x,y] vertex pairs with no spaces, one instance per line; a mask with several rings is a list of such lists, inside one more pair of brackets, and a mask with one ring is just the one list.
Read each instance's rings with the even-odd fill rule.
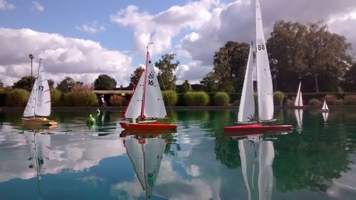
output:
[[244,86],[242,88],[239,114],[237,116],[238,122],[251,122],[255,115],[255,100],[253,98],[253,52],[252,47],[248,54],[248,61],[244,79]]

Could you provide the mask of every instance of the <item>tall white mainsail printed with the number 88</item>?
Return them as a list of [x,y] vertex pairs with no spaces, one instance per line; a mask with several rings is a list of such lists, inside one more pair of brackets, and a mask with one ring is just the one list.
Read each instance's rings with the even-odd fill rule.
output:
[[263,33],[260,3],[256,0],[256,68],[258,91],[258,118],[273,120],[273,85],[268,61],[266,41]]

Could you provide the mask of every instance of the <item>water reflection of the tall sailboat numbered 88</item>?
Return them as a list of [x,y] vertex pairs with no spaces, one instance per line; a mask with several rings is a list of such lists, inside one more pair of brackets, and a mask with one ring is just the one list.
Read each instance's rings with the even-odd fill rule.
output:
[[[244,176],[249,200],[268,200],[273,191],[273,159],[275,157],[273,140],[266,136],[285,135],[288,132],[235,133],[241,158],[241,171]],[[271,140],[272,139],[272,140]]]

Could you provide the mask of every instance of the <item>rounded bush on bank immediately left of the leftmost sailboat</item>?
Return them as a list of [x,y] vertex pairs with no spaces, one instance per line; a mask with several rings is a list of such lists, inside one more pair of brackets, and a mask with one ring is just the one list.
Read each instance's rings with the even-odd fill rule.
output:
[[29,97],[30,93],[25,89],[11,90],[6,97],[6,106],[25,107]]

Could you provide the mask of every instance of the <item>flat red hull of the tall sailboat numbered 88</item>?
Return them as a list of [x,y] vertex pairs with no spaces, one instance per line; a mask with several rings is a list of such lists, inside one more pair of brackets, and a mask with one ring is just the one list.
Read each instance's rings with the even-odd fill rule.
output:
[[292,125],[241,125],[224,127],[224,132],[266,132],[266,131],[290,131]]

